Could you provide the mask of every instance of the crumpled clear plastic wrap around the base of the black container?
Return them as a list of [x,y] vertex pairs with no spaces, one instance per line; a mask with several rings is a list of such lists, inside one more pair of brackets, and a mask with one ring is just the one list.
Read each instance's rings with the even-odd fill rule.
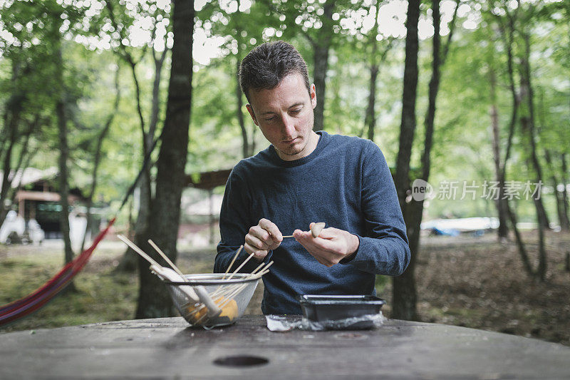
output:
[[382,312],[320,322],[311,321],[306,317],[301,318],[301,320],[291,321],[280,315],[266,315],[265,319],[267,328],[272,332],[288,332],[292,329],[309,331],[377,329],[382,326],[386,320]]

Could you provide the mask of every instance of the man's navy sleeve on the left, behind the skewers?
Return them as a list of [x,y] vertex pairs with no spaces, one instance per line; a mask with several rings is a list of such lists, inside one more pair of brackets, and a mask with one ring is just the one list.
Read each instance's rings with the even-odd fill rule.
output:
[[[219,232],[221,240],[217,245],[217,255],[214,262],[214,273],[224,273],[232,262],[239,247],[244,244],[245,235],[249,227],[257,225],[259,221],[252,221],[249,210],[251,210],[251,199],[247,190],[247,181],[239,175],[237,166],[229,174],[222,200],[222,209],[219,213]],[[270,252],[271,253],[271,252]],[[233,272],[244,260],[249,257],[246,250],[239,252],[234,264],[229,268]],[[264,262],[269,261],[271,255],[267,255]],[[259,262],[253,257],[239,272],[251,273],[259,266]]]

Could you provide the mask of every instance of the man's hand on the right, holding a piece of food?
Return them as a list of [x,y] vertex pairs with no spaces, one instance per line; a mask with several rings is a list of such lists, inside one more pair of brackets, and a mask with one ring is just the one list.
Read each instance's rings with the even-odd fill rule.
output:
[[[313,223],[310,227],[312,225]],[[293,237],[316,261],[327,267],[332,267],[344,258],[351,257],[360,244],[356,235],[333,227],[323,229],[318,237],[313,237],[310,230],[306,232],[295,230]]]

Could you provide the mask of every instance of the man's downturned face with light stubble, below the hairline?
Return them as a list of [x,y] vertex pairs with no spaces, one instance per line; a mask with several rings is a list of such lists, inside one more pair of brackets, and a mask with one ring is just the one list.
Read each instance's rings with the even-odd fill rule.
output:
[[291,73],[271,90],[249,92],[249,115],[283,160],[298,160],[316,147],[313,132],[315,86],[307,91],[303,76]]

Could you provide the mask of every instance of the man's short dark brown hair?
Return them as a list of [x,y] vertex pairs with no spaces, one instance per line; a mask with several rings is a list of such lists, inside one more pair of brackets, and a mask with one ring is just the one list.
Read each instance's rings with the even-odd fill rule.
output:
[[270,90],[291,73],[300,73],[311,93],[307,64],[299,51],[285,41],[266,42],[255,47],[239,65],[239,86],[249,99],[250,90]]

